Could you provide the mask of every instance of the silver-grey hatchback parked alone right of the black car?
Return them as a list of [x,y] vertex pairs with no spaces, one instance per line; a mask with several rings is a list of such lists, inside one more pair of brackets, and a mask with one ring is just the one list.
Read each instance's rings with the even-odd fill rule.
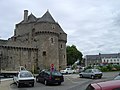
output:
[[88,77],[88,78],[102,78],[102,72],[99,69],[86,69],[83,72],[79,73],[79,76],[82,77]]

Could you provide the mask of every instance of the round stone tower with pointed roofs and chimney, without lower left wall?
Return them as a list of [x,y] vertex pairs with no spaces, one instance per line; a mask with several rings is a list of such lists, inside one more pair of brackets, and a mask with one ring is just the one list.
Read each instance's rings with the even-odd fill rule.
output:
[[[24,42],[19,45],[38,49],[37,67],[50,68],[51,64],[59,70],[66,67],[67,34],[55,22],[49,11],[41,18],[24,11],[24,20],[16,24],[13,38]],[[16,41],[17,43],[17,41]]]

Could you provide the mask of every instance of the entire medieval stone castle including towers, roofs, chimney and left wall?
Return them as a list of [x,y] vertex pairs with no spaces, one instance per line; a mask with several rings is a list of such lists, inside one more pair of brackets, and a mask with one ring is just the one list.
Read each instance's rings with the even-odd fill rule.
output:
[[14,35],[0,40],[1,68],[15,70],[25,66],[37,68],[66,67],[67,34],[55,22],[49,11],[37,18],[24,10],[23,20],[16,24]]

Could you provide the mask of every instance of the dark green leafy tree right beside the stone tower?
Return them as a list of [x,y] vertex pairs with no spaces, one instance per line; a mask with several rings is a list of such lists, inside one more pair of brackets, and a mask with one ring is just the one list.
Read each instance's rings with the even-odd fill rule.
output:
[[67,46],[67,65],[73,65],[78,59],[82,60],[83,54],[77,50],[75,45]]

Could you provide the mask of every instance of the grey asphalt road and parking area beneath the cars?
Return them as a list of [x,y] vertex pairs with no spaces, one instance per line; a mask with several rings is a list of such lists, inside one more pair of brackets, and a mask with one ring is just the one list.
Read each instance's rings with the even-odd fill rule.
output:
[[114,76],[118,75],[118,72],[106,72],[103,73],[102,79],[86,79],[79,78],[78,74],[64,75],[65,81],[61,85],[49,85],[45,86],[41,83],[36,83],[34,87],[23,86],[17,88],[13,84],[12,80],[2,81],[0,84],[1,90],[85,90],[87,85],[91,82],[100,82],[105,80],[113,79]]

